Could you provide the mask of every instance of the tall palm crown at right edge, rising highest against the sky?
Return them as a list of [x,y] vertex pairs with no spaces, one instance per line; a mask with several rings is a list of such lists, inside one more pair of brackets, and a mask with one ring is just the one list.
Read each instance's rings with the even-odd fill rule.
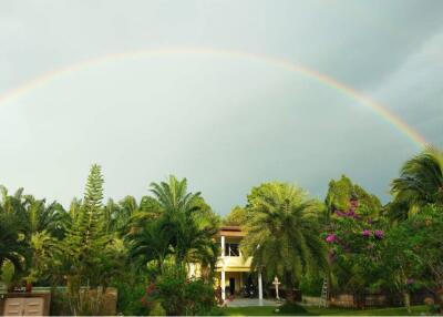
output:
[[400,177],[392,181],[391,191],[396,213],[408,214],[426,204],[443,204],[443,152],[430,146],[409,160]]

